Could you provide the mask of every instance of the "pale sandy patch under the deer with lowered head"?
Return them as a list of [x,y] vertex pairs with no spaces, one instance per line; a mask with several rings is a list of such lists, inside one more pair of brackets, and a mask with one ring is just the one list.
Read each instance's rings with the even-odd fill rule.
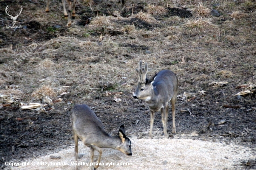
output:
[[[104,149],[99,170],[234,170],[241,169],[242,161],[255,159],[252,148],[234,144],[212,143],[191,139],[133,139],[133,156],[129,157],[118,150]],[[83,154],[80,163],[90,163],[89,149],[79,142],[79,154]],[[50,159],[50,156],[61,159]],[[95,151],[94,160],[98,157]],[[74,146],[58,153],[28,160],[30,164],[47,163],[48,166],[30,165],[11,168],[13,170],[74,170]],[[112,165],[108,166],[107,163]],[[62,163],[68,165],[54,165]],[[116,163],[114,165],[113,163]],[[119,165],[117,165],[119,163]],[[120,165],[128,163],[130,165]],[[79,166],[80,170],[89,170],[88,166]],[[10,166],[8,166],[10,167]]]

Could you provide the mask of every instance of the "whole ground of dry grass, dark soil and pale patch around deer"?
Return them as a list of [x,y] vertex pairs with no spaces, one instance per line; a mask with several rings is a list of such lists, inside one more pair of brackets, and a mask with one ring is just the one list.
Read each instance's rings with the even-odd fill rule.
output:
[[[1,169],[11,169],[6,162],[50,161],[49,154],[61,156],[52,161],[72,161],[69,118],[76,103],[89,105],[111,135],[125,125],[134,156],[106,149],[104,163],[256,169],[254,0],[80,0],[70,27],[61,0],[51,0],[49,13],[44,4],[0,1]],[[22,28],[7,28],[7,5],[13,15],[22,6],[15,24]],[[169,116],[168,139],[160,113],[148,139],[148,106],[132,98],[140,60],[148,63],[148,76],[163,69],[177,74],[177,134],[171,135]],[[42,105],[21,108],[29,103]],[[80,148],[86,155],[80,160],[88,162],[88,149]]]

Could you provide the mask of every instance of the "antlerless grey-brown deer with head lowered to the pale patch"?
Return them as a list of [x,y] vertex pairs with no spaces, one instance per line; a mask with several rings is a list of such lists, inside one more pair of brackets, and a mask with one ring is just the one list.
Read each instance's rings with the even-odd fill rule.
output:
[[[125,135],[124,125],[121,125],[118,131],[119,136],[110,136],[103,127],[101,121],[97,118],[94,111],[88,105],[75,105],[71,114],[71,124],[74,136],[74,157],[77,162],[78,137],[82,143],[90,148],[91,164],[94,163],[94,150],[99,151],[97,163],[101,161],[102,149],[112,148],[132,155],[131,141]],[[94,166],[96,170],[99,165]],[[75,166],[77,170],[77,165]],[[93,166],[91,166],[93,170]]]

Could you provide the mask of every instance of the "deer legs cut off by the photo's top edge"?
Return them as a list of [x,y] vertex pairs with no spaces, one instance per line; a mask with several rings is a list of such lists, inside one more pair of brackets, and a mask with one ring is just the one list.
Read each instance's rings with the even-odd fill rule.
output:
[[[48,13],[49,12],[49,1],[47,0],[47,5],[46,5],[46,9],[45,12]],[[72,10],[72,19],[74,20],[75,18],[75,4],[76,4],[77,0],[74,0],[73,2],[73,10],[72,10],[72,2],[71,0],[66,0],[67,2],[67,6],[68,6],[68,15],[67,15],[67,11],[66,11],[66,7],[65,7],[65,0],[62,0],[62,4],[63,4],[63,11],[64,11],[64,17],[67,19],[67,26],[71,25],[71,10]]]

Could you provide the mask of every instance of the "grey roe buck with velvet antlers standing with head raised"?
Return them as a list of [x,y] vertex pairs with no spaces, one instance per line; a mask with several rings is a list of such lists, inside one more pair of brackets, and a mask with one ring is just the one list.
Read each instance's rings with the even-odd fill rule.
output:
[[171,100],[172,104],[172,133],[176,133],[175,126],[175,102],[177,100],[178,79],[174,72],[170,70],[162,70],[147,78],[148,64],[145,63],[142,69],[142,61],[139,62],[139,68],[136,69],[139,74],[139,84],[133,94],[134,98],[143,99],[150,109],[150,130],[149,137],[152,138],[152,129],[155,119],[155,112],[162,112],[162,124],[164,136],[168,137],[167,120],[168,120],[168,102]]

